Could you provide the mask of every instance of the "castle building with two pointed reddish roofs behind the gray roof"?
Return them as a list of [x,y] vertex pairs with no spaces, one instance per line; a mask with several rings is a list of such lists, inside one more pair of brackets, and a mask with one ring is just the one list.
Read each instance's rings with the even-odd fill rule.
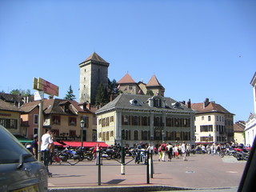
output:
[[123,94],[148,94],[148,91],[151,91],[152,94],[162,97],[165,92],[165,88],[158,82],[155,75],[152,75],[148,83],[137,83],[128,73],[118,81],[118,90]]

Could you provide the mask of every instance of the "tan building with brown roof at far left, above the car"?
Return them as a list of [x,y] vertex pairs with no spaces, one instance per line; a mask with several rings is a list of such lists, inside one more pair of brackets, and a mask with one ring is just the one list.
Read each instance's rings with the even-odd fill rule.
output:
[[[0,99],[0,125],[6,127],[12,134],[22,134],[20,110],[14,103]],[[24,135],[24,134],[23,134]],[[26,135],[26,133],[25,133]]]

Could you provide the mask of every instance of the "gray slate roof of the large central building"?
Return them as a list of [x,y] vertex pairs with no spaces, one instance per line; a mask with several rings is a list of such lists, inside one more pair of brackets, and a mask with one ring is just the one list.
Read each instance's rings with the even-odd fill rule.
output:
[[[173,106],[175,101],[172,98],[164,98],[161,96],[153,96],[162,98],[165,100],[166,106],[162,106],[162,108],[158,107],[150,107],[148,100],[152,98],[152,96],[148,95],[141,95],[141,94],[119,94],[117,98],[115,98],[112,102],[107,103],[105,106],[102,106],[99,110],[96,111],[96,114],[101,113],[105,110],[112,110],[112,109],[127,109],[127,110],[172,110],[172,111],[180,111],[180,112],[194,112],[194,110],[189,109],[186,105],[180,103],[180,107],[175,108]],[[139,105],[134,106],[130,104],[130,100],[137,99]]]

